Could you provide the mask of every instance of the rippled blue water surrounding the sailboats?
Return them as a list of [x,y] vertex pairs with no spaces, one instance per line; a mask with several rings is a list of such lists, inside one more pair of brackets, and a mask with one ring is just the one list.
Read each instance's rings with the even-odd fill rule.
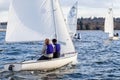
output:
[[[117,31],[119,32],[119,31]],[[50,72],[2,72],[0,80],[120,80],[120,41],[109,41],[102,31],[80,31],[81,41],[74,42],[78,64]],[[0,32],[0,69],[5,63],[37,59],[40,43],[4,43]]]

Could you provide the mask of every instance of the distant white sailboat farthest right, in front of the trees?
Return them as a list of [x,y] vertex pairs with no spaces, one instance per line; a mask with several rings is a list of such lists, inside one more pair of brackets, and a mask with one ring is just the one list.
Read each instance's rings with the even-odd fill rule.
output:
[[105,33],[108,33],[110,40],[119,40],[119,37],[117,35],[114,35],[114,20],[112,8],[108,9],[107,15],[105,17],[104,31]]

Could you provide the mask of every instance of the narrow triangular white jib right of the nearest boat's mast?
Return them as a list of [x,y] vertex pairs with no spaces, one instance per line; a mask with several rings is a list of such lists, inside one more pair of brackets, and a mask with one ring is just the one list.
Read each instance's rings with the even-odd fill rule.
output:
[[71,38],[69,36],[67,26],[65,24],[63,14],[59,5],[59,0],[53,0],[54,1],[54,18],[55,18],[55,26],[56,26],[56,34],[57,39],[61,44],[61,52],[62,53],[69,53],[69,52],[75,52],[73,43],[71,41]]

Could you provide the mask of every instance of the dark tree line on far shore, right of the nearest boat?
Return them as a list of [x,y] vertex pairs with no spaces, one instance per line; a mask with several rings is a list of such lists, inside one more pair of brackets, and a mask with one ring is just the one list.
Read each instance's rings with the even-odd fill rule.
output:
[[[105,18],[94,17],[94,18],[78,18],[77,19],[77,30],[103,30]],[[114,18],[115,30],[120,30],[120,18]]]

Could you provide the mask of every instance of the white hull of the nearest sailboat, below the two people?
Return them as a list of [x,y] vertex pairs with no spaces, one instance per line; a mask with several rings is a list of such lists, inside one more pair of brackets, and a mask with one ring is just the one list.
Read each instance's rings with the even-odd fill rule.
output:
[[[25,61],[22,63],[14,63],[13,71],[26,71],[26,70],[41,70],[41,71],[48,71],[60,68],[62,66],[65,66],[69,63],[75,64],[77,62],[77,53],[70,54],[67,57],[61,57],[51,60],[31,60],[31,61]],[[6,64],[4,66],[5,71],[9,71],[9,66],[11,64]]]

